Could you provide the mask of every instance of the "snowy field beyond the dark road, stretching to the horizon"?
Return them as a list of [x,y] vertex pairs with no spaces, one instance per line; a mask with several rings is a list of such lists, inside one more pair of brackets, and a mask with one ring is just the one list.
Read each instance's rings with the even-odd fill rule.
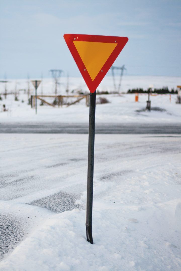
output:
[[[14,92],[15,80],[9,80],[7,83],[8,92]],[[117,77],[117,83],[119,78]],[[58,86],[58,94],[65,95],[66,78],[61,79],[62,84]],[[122,92],[127,92],[129,88],[144,88],[147,89],[150,84],[154,88],[162,88],[168,86],[171,90],[176,89],[180,85],[181,77],[164,77],[164,76],[123,76]],[[27,80],[18,80],[17,89],[26,89]],[[87,87],[82,78],[69,78],[69,95],[77,94],[77,91],[82,89],[87,91]],[[100,91],[113,91],[113,80],[111,76],[104,78],[100,84]],[[71,93],[74,90],[74,93]],[[37,93],[41,94],[54,94],[54,84],[52,79],[43,79],[43,84],[39,86]],[[4,84],[0,84],[0,93],[4,93]],[[38,100],[37,115],[35,109],[27,105],[27,93],[23,90],[19,91],[19,101],[14,101],[14,95],[1,95],[3,100],[0,101],[0,123],[14,123],[14,122],[61,122],[61,123],[88,123],[89,108],[85,105],[85,99],[81,100],[78,104],[71,105],[70,107],[53,108],[48,105],[40,106]],[[30,87],[31,95],[35,94],[33,86]],[[145,111],[147,94],[139,95],[139,102],[135,102],[135,94],[122,94],[119,95],[101,95],[107,98],[109,103],[96,105],[96,123],[180,123],[181,122],[181,106],[176,104],[177,95],[156,95],[151,96],[151,112]],[[100,95],[97,95],[97,101]],[[52,103],[53,98],[45,98],[46,101]],[[75,99],[69,98],[69,102]],[[24,101],[24,102],[22,102]],[[7,112],[2,112],[3,104],[8,109]]]

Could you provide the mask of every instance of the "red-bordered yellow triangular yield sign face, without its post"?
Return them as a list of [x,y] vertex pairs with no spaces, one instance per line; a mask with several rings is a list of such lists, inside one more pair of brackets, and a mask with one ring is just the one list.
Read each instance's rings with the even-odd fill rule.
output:
[[122,51],[127,37],[64,34],[65,42],[93,93]]

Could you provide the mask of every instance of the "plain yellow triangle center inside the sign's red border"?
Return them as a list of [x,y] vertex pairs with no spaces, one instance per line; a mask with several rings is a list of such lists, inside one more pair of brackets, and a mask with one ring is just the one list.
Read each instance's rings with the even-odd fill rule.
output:
[[73,43],[93,81],[117,45],[93,41],[73,41]]

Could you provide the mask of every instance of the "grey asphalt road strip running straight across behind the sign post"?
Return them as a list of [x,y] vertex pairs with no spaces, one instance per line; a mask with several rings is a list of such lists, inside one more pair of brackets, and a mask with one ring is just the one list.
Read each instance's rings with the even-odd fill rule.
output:
[[[88,124],[84,123],[1,123],[0,133],[45,133],[45,134],[88,134]],[[96,124],[97,134],[181,134],[180,123],[176,124]]]

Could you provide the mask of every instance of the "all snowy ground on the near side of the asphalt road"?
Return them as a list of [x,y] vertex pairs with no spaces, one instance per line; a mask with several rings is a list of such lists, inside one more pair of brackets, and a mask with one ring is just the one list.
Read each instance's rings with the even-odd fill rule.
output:
[[180,135],[96,134],[93,245],[88,135],[0,139],[0,270],[181,270]]

